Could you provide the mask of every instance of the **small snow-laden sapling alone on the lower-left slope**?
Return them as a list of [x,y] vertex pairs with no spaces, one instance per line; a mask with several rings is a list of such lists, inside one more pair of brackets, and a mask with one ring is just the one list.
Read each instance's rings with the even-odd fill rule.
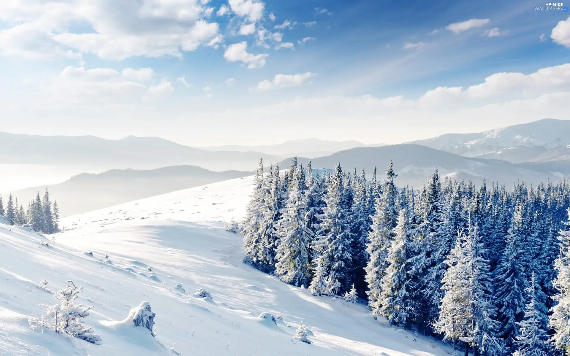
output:
[[58,304],[45,305],[46,315],[40,318],[31,317],[29,322],[32,328],[52,329],[56,333],[67,334],[91,343],[101,341],[99,335],[93,333],[93,327],[86,326],[83,322],[83,318],[89,315],[89,310],[93,306],[75,304],[82,290],[83,287],[75,285],[58,290],[54,296],[59,301]]

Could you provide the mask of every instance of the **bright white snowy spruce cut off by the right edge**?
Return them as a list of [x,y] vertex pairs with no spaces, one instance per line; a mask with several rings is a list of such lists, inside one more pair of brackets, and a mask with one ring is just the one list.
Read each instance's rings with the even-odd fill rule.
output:
[[[565,227],[570,227],[570,208],[568,209],[568,222],[564,222]],[[555,262],[555,269],[558,271],[553,286],[556,289],[556,296],[553,299],[557,302],[551,308],[551,316],[548,326],[554,330],[552,342],[556,349],[562,350],[563,355],[570,353],[570,231],[560,230],[560,255]]]

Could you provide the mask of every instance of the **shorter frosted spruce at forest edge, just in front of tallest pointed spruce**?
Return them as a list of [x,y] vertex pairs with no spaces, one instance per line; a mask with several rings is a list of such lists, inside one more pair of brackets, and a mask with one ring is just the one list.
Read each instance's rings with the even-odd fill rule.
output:
[[406,209],[400,210],[395,232],[396,236],[388,248],[386,258],[389,265],[380,285],[382,290],[380,293],[381,313],[388,318],[390,324],[408,328],[414,305],[408,293],[409,277],[406,262],[410,241]]

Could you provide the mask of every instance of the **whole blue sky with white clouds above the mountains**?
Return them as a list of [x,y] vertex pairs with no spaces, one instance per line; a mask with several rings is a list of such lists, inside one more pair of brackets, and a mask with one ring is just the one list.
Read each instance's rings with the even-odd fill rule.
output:
[[0,130],[398,143],[568,119],[569,13],[544,5],[2,2]]

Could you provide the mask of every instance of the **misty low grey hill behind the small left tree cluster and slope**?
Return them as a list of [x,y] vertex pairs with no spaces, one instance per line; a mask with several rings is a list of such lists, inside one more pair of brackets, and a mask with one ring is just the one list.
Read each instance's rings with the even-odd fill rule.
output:
[[[196,166],[171,166],[153,170],[113,169],[100,174],[79,174],[47,188],[52,199],[58,201],[60,215],[69,216],[250,174],[251,172],[245,171],[216,172]],[[26,205],[35,198],[37,191],[43,194],[44,190],[46,186],[38,186],[14,191],[12,194]],[[6,198],[7,194],[3,194],[3,197]]]

